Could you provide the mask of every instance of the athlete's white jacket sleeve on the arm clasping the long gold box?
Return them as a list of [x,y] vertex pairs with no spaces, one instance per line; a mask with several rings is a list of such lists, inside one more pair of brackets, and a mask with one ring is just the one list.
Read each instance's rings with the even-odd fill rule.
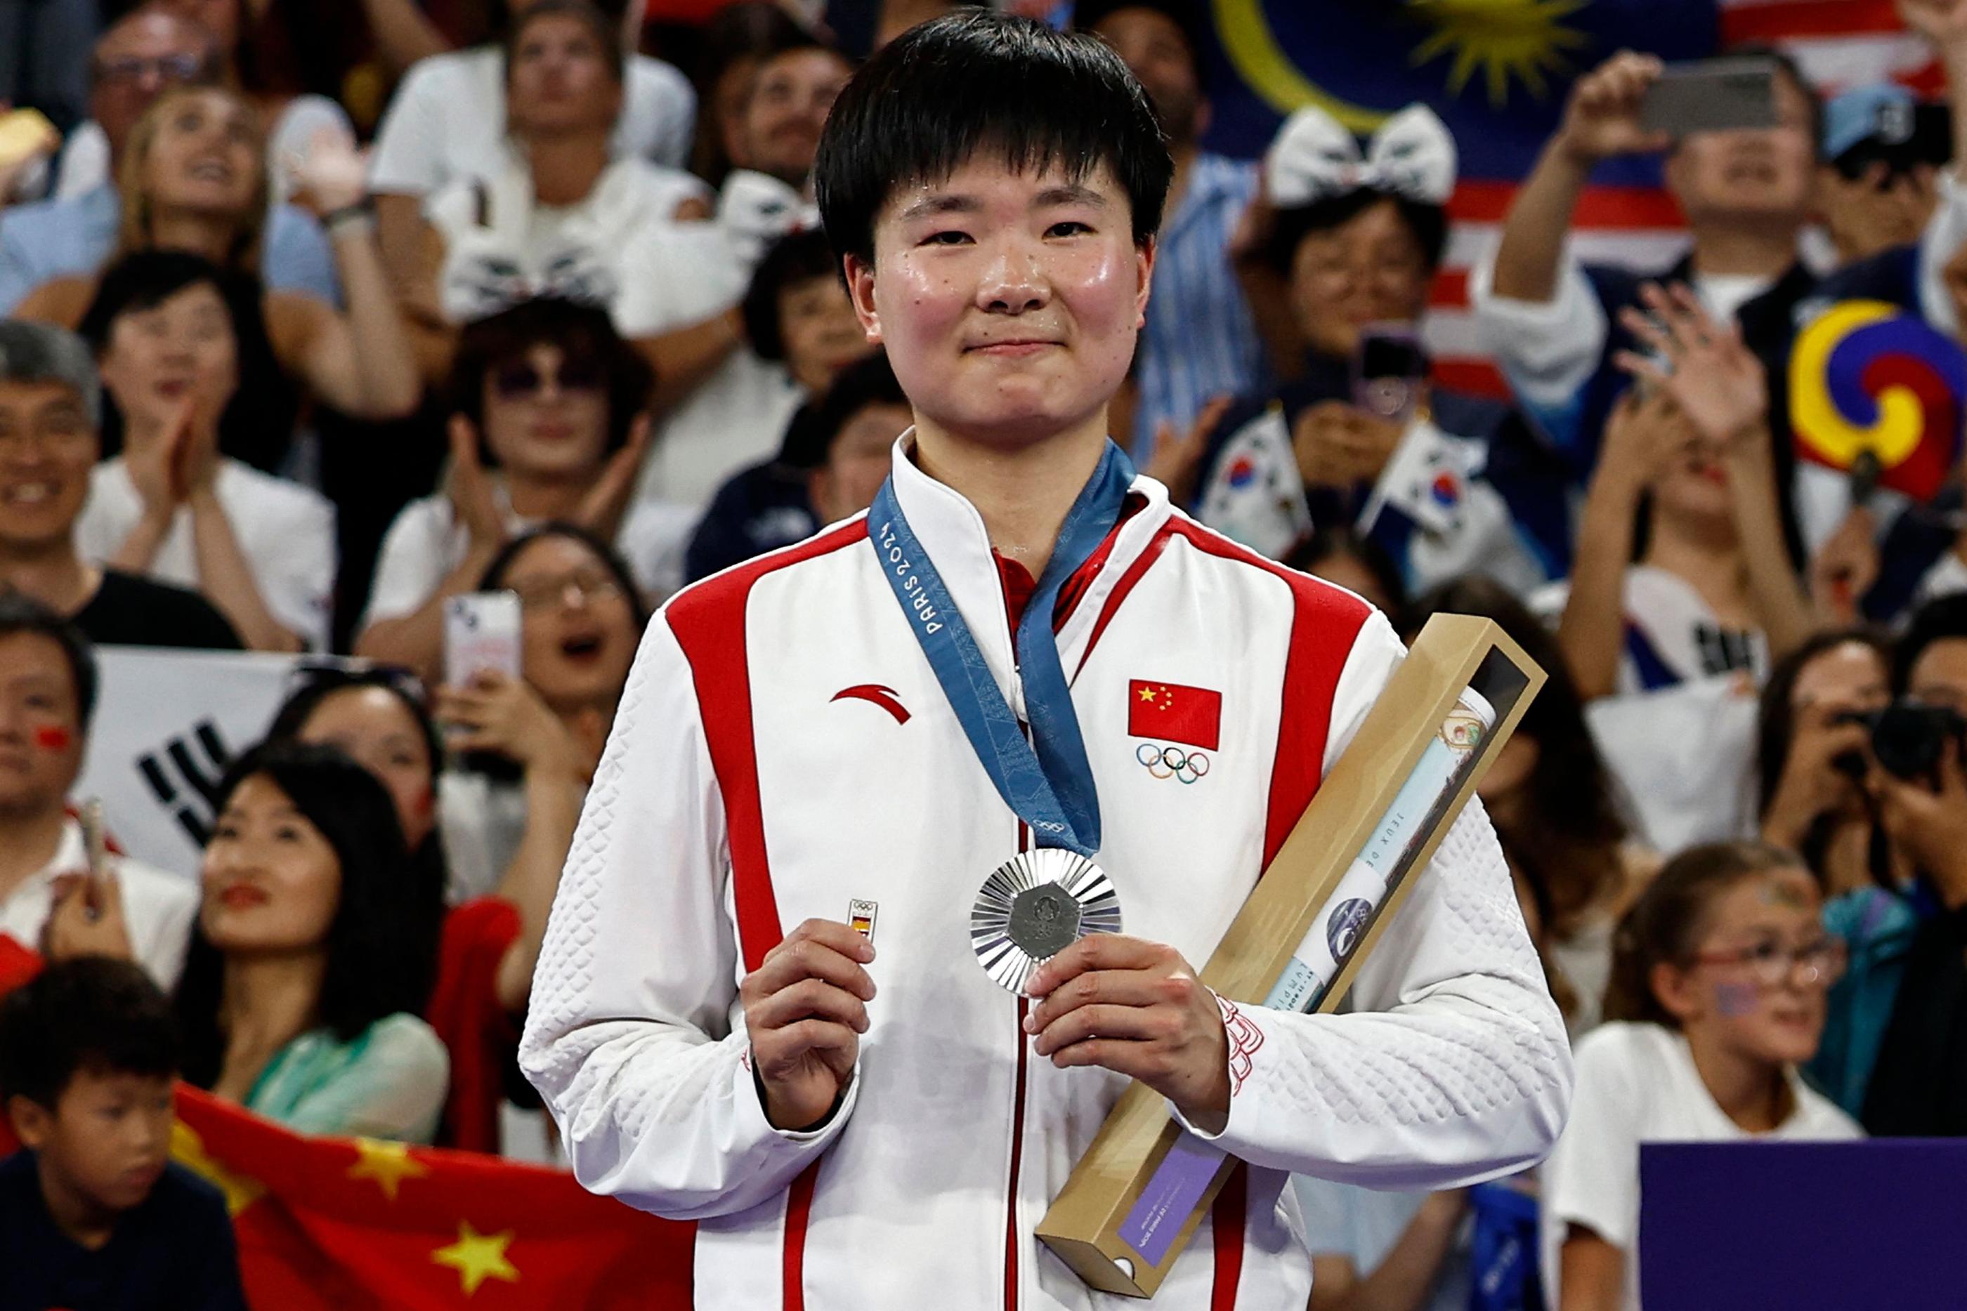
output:
[[[1328,767],[1401,658],[1375,611],[1340,674]],[[1410,877],[1351,1014],[1223,1004],[1245,1073],[1216,1146],[1341,1183],[1444,1189],[1522,1169],[1556,1142],[1572,1091],[1564,1018],[1479,800]]]

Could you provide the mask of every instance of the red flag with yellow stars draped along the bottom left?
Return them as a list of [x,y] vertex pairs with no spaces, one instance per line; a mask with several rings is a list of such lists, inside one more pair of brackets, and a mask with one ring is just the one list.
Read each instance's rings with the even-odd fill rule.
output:
[[[33,953],[0,936],[0,991]],[[0,1154],[12,1152],[0,1120]],[[496,1156],[309,1138],[179,1085],[171,1160],[216,1185],[256,1311],[688,1311],[694,1226]]]

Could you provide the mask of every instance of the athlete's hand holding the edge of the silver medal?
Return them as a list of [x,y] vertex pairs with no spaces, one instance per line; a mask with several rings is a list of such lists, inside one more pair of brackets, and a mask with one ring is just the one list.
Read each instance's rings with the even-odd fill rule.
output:
[[1025,1016],[1052,1065],[1100,1065],[1155,1089],[1192,1122],[1229,1114],[1229,1040],[1216,995],[1174,947],[1088,934],[1025,985]]

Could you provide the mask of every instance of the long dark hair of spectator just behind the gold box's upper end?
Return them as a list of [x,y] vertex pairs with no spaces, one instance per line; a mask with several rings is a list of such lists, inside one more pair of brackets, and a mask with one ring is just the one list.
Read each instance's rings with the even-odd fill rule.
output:
[[1499,824],[1497,837],[1540,900],[1548,898],[1550,936],[1564,938],[1621,879],[1619,845],[1627,837],[1617,784],[1585,727],[1578,684],[1550,629],[1489,578],[1471,574],[1420,598],[1408,611],[1408,631],[1434,613],[1493,619],[1548,674],[1517,725],[1517,735],[1536,743],[1526,816],[1522,824]]

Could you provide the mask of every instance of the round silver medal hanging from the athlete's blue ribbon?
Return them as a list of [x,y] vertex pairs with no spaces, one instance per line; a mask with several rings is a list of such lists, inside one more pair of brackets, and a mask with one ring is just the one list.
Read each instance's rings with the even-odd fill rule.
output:
[[970,945],[1001,989],[1023,995],[1044,961],[1086,934],[1119,932],[1119,892],[1076,851],[1041,847],[999,865],[970,908]]

